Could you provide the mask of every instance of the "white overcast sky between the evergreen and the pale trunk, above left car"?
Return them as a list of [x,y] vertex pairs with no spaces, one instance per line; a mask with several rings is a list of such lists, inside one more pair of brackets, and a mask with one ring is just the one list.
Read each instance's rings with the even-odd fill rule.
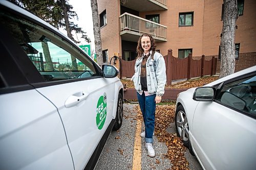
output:
[[[92,8],[90,0],[69,0],[70,5],[73,6],[73,11],[77,13],[78,20],[73,20],[74,23],[81,27],[84,32],[87,33],[87,36],[91,39],[91,52],[95,51],[94,45],[94,33],[93,33],[93,18],[92,18]],[[67,35],[67,32],[60,30],[63,34]],[[76,35],[74,38],[76,39]],[[78,37],[80,37],[78,35]],[[78,45],[88,44],[84,39],[78,39],[81,41]]]

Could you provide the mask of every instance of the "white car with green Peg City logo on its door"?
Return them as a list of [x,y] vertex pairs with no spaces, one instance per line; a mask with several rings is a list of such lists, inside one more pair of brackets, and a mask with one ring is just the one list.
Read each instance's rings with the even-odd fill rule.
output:
[[122,125],[119,71],[10,2],[0,25],[0,169],[93,169]]

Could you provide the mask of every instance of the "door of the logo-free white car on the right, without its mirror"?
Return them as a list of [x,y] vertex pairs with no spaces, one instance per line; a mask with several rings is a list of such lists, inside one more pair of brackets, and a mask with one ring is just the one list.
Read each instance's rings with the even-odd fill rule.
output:
[[[250,84],[246,84],[248,81]],[[255,167],[255,88],[254,72],[224,82],[214,102],[198,104],[193,119],[193,147],[205,169]]]

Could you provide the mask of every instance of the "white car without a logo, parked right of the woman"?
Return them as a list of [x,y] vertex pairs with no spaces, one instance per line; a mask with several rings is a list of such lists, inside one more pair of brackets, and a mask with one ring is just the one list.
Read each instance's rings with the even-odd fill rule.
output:
[[179,93],[178,136],[204,169],[255,169],[256,66]]

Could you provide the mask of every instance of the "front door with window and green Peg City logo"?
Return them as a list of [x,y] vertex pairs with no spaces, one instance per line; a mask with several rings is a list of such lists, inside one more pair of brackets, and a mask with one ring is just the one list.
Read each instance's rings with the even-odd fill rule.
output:
[[103,78],[99,66],[54,28],[9,16],[6,27],[43,78],[27,79],[56,107],[75,168],[83,169],[113,122],[116,79]]

